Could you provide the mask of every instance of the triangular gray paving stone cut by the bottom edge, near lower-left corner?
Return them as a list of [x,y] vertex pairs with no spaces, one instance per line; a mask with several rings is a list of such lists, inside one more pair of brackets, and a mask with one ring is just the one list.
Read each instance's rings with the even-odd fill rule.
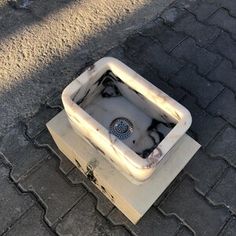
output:
[[43,212],[33,206],[4,236],[50,236],[55,235],[42,220]]

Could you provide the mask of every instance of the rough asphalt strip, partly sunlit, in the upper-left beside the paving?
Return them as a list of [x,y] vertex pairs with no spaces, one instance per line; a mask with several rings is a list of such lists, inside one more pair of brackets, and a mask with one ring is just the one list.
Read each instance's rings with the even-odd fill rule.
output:
[[1,1],[0,134],[172,1]]

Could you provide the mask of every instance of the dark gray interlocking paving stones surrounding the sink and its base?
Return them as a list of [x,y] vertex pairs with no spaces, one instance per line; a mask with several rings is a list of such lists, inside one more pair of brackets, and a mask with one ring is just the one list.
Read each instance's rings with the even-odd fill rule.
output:
[[53,143],[58,93],[1,138],[0,234],[236,235],[236,1],[176,1],[106,55],[185,105],[201,150],[132,225]]

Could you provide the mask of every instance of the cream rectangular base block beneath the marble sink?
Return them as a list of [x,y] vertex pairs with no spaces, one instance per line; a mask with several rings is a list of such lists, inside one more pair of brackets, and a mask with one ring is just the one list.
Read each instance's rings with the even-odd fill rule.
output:
[[92,166],[94,184],[134,224],[145,214],[178,173],[200,148],[195,140],[184,135],[167,153],[162,168],[143,184],[135,185],[116,170],[96,149],[71,128],[65,111],[47,123],[58,148],[83,172]]

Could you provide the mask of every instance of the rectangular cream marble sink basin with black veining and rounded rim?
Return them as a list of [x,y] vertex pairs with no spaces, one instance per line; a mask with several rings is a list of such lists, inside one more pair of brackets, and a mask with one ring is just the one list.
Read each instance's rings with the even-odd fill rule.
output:
[[72,81],[62,101],[74,131],[134,184],[161,168],[192,122],[185,107],[111,57]]

